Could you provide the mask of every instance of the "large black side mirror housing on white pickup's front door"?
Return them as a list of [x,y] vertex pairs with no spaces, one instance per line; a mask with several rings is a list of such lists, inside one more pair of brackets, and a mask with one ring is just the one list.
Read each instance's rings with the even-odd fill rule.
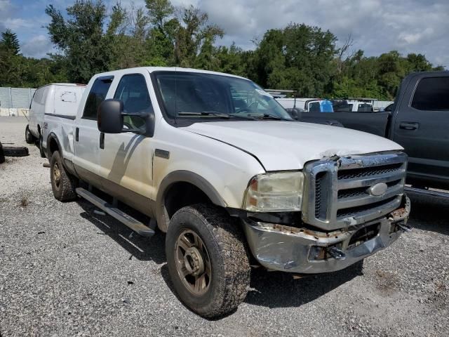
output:
[[123,102],[103,100],[98,107],[97,126],[104,133],[123,132]]

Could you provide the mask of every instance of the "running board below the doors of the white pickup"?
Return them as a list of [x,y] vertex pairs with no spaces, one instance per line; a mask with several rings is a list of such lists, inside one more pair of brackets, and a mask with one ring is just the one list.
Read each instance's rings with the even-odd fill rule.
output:
[[123,225],[130,227],[131,230],[138,233],[139,235],[142,235],[142,237],[152,237],[154,235],[154,230],[152,230],[150,227],[145,226],[140,221],[135,220],[135,218],[133,218],[132,216],[129,216],[113,205],[108,204],[105,200],[100,199],[92,192],[78,187],[76,189],[76,194],[91,202],[105,213],[109,214],[109,216],[112,216],[112,218],[119,220],[121,223],[123,223]]

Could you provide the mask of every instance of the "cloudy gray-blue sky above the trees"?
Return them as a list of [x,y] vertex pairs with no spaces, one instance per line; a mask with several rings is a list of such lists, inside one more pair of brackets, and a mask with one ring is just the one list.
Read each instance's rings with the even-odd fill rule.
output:
[[[69,0],[0,0],[0,30],[13,29],[20,39],[22,53],[42,57],[52,51],[44,25],[46,4],[61,10]],[[116,1],[105,0],[108,7]],[[131,0],[122,0],[128,6]],[[143,6],[143,0],[133,1]],[[289,22],[330,29],[340,41],[349,34],[352,48],[366,55],[398,50],[403,54],[424,53],[434,65],[449,68],[449,0],[173,0],[175,6],[193,4],[208,13],[210,21],[225,29],[218,44],[235,41],[243,49],[270,28]]]

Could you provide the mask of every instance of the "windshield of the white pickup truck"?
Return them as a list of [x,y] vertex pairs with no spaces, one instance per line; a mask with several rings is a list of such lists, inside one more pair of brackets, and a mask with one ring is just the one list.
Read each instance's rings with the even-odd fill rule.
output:
[[196,72],[154,72],[169,119],[281,119],[288,112],[246,79]]

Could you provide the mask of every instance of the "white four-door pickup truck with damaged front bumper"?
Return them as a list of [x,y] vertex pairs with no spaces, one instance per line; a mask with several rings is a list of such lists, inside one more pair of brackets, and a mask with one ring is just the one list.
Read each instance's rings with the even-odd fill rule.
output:
[[83,197],[145,236],[156,225],[166,232],[174,289],[205,317],[244,300],[250,264],[332,272],[410,230],[400,145],[293,121],[241,77],[166,67],[97,74],[76,118],[48,116],[43,138],[55,198]]

